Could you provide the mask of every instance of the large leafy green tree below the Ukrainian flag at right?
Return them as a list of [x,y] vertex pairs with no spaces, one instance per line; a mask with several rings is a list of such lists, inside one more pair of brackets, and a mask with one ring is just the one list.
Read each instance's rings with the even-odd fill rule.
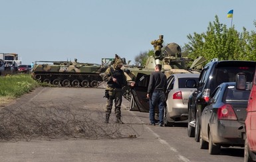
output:
[[[256,25],[256,22],[254,22]],[[184,49],[192,59],[203,56],[208,61],[213,58],[219,60],[256,60],[256,34],[239,33],[235,26],[227,28],[221,24],[217,15],[215,21],[209,22],[207,31],[201,34],[193,33],[187,36],[189,42]]]

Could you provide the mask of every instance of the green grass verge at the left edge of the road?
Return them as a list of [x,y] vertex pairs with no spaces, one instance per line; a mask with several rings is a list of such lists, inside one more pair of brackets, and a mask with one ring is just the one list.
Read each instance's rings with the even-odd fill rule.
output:
[[29,93],[40,84],[30,74],[6,75],[0,77],[0,97],[17,98]]

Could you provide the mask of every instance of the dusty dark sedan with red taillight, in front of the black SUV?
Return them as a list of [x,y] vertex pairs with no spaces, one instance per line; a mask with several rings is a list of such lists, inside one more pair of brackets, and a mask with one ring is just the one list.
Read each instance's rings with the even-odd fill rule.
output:
[[[235,82],[221,83],[201,114],[200,148],[219,154],[221,146],[244,147],[246,108],[251,90],[236,89]],[[197,104],[205,104],[198,99]]]

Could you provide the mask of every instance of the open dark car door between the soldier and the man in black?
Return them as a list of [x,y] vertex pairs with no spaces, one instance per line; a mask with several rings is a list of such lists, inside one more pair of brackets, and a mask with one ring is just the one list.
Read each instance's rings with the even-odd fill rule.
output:
[[150,110],[150,100],[146,97],[149,82],[150,75],[138,73],[135,81],[136,86],[131,89],[132,96],[140,112],[149,112]]

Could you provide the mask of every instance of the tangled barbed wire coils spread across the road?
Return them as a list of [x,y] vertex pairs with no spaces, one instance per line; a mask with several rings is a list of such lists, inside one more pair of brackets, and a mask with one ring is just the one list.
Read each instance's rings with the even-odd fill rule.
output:
[[105,112],[95,108],[52,102],[15,105],[0,110],[0,141],[135,138],[143,132],[143,125],[134,129],[132,124],[105,124]]

